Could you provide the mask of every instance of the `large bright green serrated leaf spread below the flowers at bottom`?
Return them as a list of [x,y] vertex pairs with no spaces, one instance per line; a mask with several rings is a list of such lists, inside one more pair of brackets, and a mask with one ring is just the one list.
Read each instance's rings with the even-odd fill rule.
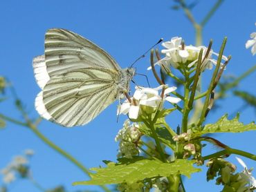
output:
[[96,173],[91,174],[91,180],[74,182],[77,184],[119,184],[122,182],[134,183],[150,177],[168,177],[181,174],[190,177],[190,174],[201,171],[194,168],[194,160],[176,160],[164,163],[159,160],[135,158],[127,164],[109,164],[105,168],[93,168]]

